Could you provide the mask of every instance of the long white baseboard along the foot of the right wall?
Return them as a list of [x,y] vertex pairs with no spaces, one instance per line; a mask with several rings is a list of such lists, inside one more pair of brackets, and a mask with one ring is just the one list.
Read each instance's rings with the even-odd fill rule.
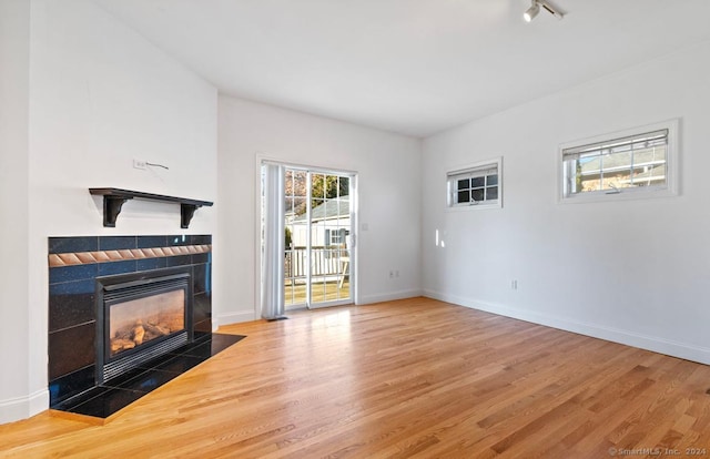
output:
[[710,365],[710,348],[707,347],[674,341],[666,338],[659,338],[656,336],[642,335],[636,332],[607,327],[598,324],[570,320],[565,317],[551,316],[531,310],[524,310],[504,305],[479,302],[471,298],[465,298],[457,295],[448,295],[429,289],[424,290],[424,296],[446,303],[453,303],[459,306],[469,307],[473,309],[485,310],[487,313],[493,313],[500,316],[511,317],[538,325],[545,325],[547,327],[572,332],[580,335],[591,336],[594,338],[606,339],[608,341],[619,343],[627,346],[633,346],[641,349],[652,350],[659,354],[666,354],[669,356]]

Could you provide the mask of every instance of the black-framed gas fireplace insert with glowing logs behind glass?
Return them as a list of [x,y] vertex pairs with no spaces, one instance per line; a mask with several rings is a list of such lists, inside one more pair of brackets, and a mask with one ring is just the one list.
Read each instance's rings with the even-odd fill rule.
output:
[[189,268],[97,278],[97,384],[193,341]]

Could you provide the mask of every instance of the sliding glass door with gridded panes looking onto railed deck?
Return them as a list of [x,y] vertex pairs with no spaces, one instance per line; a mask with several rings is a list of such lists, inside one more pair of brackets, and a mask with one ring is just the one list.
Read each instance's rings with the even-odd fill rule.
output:
[[354,175],[286,167],[286,309],[352,303]]

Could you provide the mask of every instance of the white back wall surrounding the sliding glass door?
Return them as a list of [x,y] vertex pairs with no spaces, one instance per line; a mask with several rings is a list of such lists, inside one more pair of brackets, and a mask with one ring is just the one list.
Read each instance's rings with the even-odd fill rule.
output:
[[[260,316],[255,294],[257,155],[356,171],[359,186],[358,302],[420,293],[420,142],[353,124],[220,96],[220,324]],[[215,244],[215,245],[216,245]],[[399,277],[390,279],[389,269]]]

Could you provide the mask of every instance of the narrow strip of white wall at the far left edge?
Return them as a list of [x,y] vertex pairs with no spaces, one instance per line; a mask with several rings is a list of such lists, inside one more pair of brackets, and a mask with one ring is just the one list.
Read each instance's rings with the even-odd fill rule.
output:
[[[28,104],[30,4],[0,0],[0,424],[30,416]],[[8,369],[11,368],[11,371]]]

